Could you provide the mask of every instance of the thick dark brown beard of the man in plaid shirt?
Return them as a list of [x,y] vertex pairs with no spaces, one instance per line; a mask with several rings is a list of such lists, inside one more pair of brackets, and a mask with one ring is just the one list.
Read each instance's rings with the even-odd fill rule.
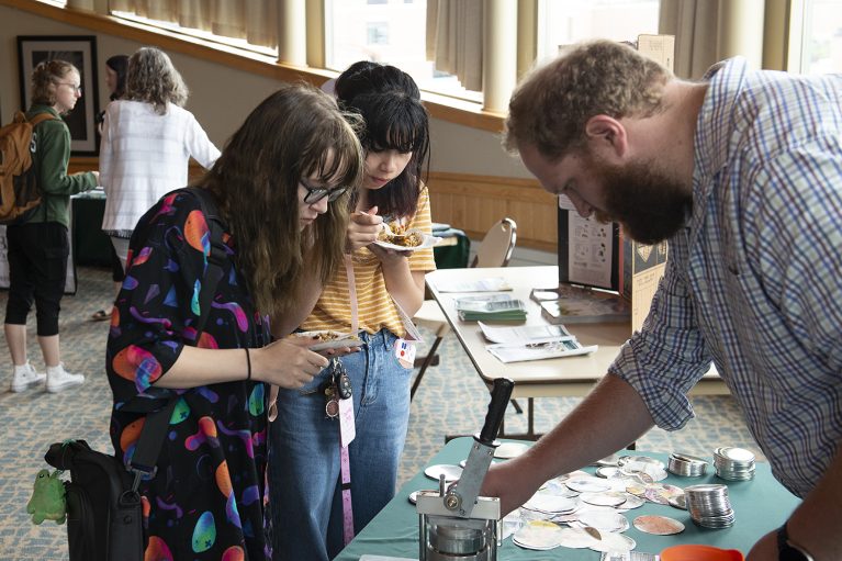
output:
[[619,222],[631,239],[650,245],[663,242],[689,216],[693,195],[651,161],[622,167],[592,162],[605,193],[605,210],[595,212],[596,220]]

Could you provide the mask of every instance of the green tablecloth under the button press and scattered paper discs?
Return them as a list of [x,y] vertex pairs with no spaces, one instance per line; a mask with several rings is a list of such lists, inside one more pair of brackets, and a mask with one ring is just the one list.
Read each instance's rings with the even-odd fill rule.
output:
[[[470,438],[450,441],[429,461],[428,465],[459,463],[468,457],[471,441]],[[669,453],[645,451],[629,453],[651,456],[664,462],[669,456]],[[712,465],[709,465],[708,470],[712,471],[711,468]],[[594,469],[587,468],[585,471],[593,473]],[[631,526],[625,534],[637,541],[637,551],[659,553],[664,548],[678,543],[707,543],[725,549],[739,549],[743,553],[748,553],[761,536],[781,526],[800,503],[800,500],[790,494],[772,476],[767,463],[759,462],[755,476],[750,481],[725,481],[712,474],[701,478],[680,478],[670,474],[663,483],[671,483],[681,487],[698,483],[727,484],[728,496],[737,520],[730,528],[718,530],[699,528],[691,520],[689,513],[686,510],[647,502],[640,508],[625,513],[629,524],[638,516],[658,514],[681,520],[685,525],[685,530],[674,536],[653,536],[641,532]],[[417,474],[397,492],[395,498],[336,559],[338,561],[356,561],[366,553],[417,559],[418,515],[415,512],[415,506],[407,501],[407,496],[412,491],[436,489],[436,486],[437,483],[426,478],[423,472]],[[529,551],[512,543],[512,538],[504,540],[503,547],[497,552],[501,560],[598,561],[600,557],[600,553],[588,549],[555,548],[550,551]]]

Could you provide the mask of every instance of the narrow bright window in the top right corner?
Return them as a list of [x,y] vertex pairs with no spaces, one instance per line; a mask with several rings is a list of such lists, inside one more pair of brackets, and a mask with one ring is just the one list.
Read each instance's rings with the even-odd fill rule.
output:
[[804,3],[799,71],[842,71],[842,10],[839,0],[807,0]]

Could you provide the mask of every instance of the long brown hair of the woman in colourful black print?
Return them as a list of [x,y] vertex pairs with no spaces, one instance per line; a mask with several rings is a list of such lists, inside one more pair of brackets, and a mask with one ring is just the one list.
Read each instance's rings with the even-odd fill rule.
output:
[[[350,120],[350,122],[349,122]],[[287,312],[301,293],[304,254],[326,283],[343,258],[348,198],[362,180],[362,148],[352,116],[304,83],[263,100],[199,180],[217,201],[237,244],[237,266],[261,313]],[[300,232],[299,182],[316,176],[349,186],[313,225]]]

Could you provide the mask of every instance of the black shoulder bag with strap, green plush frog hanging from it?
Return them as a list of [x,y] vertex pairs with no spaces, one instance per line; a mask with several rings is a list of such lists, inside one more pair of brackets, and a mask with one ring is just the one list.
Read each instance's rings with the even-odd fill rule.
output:
[[[223,274],[226,253],[223,226],[210,193],[198,188],[180,191],[195,194],[211,228],[207,273],[199,295],[202,316],[197,323],[198,341]],[[112,455],[91,450],[85,440],[56,442],[47,450],[44,460],[48,464],[70,472],[70,481],[64,482],[70,561],[143,561],[146,537],[137,489],[143,476],[155,476],[177,401],[135,400],[124,405],[122,411],[147,414],[128,468]]]

